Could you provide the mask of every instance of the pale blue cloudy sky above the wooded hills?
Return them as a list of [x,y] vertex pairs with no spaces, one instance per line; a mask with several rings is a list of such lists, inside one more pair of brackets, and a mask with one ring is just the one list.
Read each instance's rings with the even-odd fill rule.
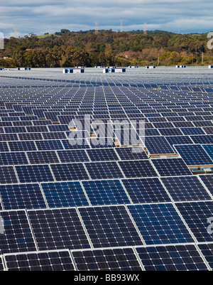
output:
[[212,0],[0,0],[0,32],[5,38],[43,35],[62,28],[163,30],[174,33],[213,31]]

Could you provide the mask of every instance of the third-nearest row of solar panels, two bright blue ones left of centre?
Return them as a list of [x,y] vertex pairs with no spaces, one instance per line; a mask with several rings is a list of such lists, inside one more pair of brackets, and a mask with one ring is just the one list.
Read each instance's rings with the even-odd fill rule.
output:
[[0,185],[0,210],[212,200],[213,176]]

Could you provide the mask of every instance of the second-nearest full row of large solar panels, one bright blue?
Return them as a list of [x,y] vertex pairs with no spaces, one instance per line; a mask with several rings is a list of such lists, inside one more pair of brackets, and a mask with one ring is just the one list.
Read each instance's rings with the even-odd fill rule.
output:
[[212,242],[212,210],[199,201],[1,211],[1,254]]

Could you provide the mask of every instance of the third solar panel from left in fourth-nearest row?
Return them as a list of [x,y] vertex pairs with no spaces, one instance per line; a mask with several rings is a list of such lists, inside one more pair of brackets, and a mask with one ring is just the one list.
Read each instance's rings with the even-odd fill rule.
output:
[[56,181],[79,181],[89,179],[83,163],[61,163],[51,164],[50,166]]

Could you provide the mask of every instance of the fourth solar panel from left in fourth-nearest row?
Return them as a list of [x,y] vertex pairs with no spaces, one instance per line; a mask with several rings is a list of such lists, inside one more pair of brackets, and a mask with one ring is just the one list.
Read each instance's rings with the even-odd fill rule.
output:
[[92,179],[124,178],[116,161],[85,163],[85,166]]

